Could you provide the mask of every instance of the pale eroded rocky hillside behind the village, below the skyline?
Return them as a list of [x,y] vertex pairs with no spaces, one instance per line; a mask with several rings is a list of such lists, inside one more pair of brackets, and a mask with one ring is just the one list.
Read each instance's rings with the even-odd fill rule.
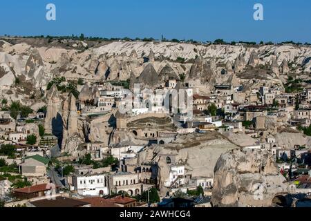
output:
[[243,85],[250,90],[265,81],[282,87],[288,76],[310,80],[310,57],[310,46],[295,45],[5,38],[0,40],[0,99],[32,106],[40,100],[37,93],[55,77],[129,80],[131,85],[153,87],[184,74],[186,80],[200,81],[202,92],[211,91],[214,84]]

